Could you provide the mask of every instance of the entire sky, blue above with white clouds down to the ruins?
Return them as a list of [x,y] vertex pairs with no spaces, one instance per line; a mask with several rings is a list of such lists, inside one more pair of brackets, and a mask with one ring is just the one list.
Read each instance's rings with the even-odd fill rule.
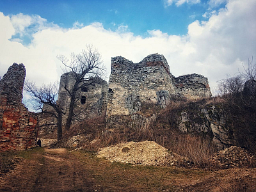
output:
[[214,93],[216,81],[255,56],[255,10],[256,0],[0,0],[0,76],[17,62],[38,85],[58,81],[56,55],[92,44],[106,79],[111,57],[138,63],[158,52],[174,76],[202,74]]

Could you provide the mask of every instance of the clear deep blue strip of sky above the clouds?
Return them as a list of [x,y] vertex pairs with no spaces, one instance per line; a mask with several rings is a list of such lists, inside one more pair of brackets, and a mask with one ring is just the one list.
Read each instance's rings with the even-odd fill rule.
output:
[[[207,20],[202,15],[210,8],[207,0],[168,6],[166,1],[0,1],[4,15],[40,15],[48,22],[72,28],[74,22],[84,25],[100,22],[104,28],[115,30],[129,26],[134,35],[148,36],[147,31],[159,29],[168,35],[186,35],[194,20]],[[211,10],[225,7],[225,1]]]

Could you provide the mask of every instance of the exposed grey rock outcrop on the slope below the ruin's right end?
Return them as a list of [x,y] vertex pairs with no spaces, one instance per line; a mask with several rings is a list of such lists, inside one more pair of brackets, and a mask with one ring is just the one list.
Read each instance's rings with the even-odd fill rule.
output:
[[194,104],[179,113],[177,125],[183,132],[211,136],[212,143],[221,150],[237,144],[231,127],[227,125],[228,119],[225,113],[225,110],[218,105]]

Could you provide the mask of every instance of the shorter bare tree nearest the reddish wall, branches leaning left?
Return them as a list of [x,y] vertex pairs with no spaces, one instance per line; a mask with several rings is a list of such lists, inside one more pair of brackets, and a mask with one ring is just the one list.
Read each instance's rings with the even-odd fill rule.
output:
[[[24,90],[31,95],[30,102],[33,104],[35,110],[42,110],[42,113],[51,113],[57,118],[58,126],[58,140],[62,138],[62,111],[61,108],[56,104],[58,95],[58,86],[56,83],[50,83],[49,85],[43,84],[38,87],[33,82],[26,81],[24,84]],[[54,111],[46,111],[43,106],[51,106]]]

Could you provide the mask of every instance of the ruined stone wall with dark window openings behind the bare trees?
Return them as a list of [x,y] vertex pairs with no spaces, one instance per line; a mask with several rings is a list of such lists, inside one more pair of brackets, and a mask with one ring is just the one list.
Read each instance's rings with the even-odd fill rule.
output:
[[[68,90],[72,90],[75,84],[74,75],[72,72],[65,73],[60,78],[60,88],[57,103],[63,109],[63,124],[65,124],[68,116],[70,97]],[[95,77],[84,83],[79,84],[81,87],[77,92],[77,102],[74,107],[74,120],[84,120],[102,115],[106,112],[108,83],[99,77]]]

